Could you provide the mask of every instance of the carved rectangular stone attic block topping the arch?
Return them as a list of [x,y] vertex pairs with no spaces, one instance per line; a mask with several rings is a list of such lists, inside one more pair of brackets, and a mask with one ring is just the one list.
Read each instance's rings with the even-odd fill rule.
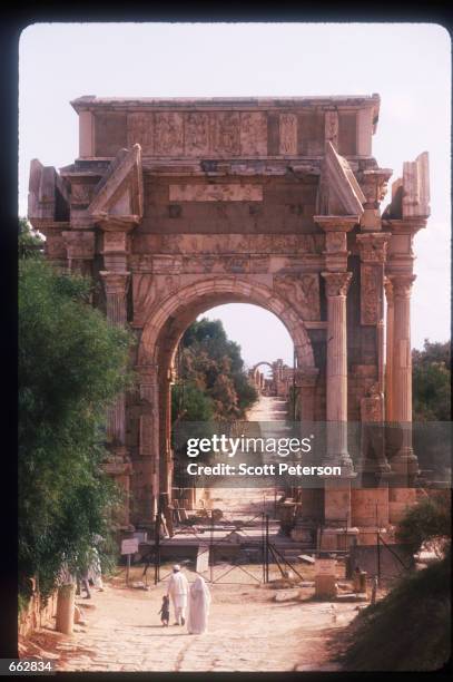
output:
[[371,156],[380,97],[121,99],[79,97],[80,158],[115,157],[138,143],[144,156],[199,158]]

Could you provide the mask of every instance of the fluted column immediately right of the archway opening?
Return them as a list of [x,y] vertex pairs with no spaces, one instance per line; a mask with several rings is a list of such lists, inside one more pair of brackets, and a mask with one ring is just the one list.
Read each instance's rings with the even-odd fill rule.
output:
[[349,469],[347,452],[347,338],[346,294],[351,272],[323,272],[327,296],[327,455]]

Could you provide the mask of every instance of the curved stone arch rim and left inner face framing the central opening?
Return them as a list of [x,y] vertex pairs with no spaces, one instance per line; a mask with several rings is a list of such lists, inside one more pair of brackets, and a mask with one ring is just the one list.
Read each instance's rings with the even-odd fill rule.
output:
[[[140,461],[136,499],[142,514],[152,514],[158,499],[171,499],[171,381],[178,343],[189,324],[200,314],[226,303],[253,303],[272,313],[285,325],[294,344],[299,378],[308,376],[304,393],[307,419],[313,419],[317,369],[304,321],[284,299],[268,286],[238,277],[216,277],[176,289],[163,303],[151,305],[140,340],[138,370],[140,396],[150,403],[140,427]],[[141,500],[141,504],[140,504]],[[144,510],[148,509],[148,514]]]

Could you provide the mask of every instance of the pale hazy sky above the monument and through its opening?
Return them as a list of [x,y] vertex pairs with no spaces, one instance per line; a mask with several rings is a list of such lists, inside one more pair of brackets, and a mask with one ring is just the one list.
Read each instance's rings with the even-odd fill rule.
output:
[[[392,23],[37,23],[20,40],[19,213],[29,165],[57,168],[78,155],[81,95],[234,97],[381,95],[373,138],[380,166],[430,153],[431,208],[415,237],[412,341],[450,338],[450,37],[436,25]],[[384,202],[384,206],[386,205]],[[252,305],[223,319],[247,363],[283,358],[282,323]]]

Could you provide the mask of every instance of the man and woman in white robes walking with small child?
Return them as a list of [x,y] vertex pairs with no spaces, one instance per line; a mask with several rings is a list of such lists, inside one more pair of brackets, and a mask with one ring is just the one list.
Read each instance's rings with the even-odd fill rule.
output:
[[189,587],[187,577],[177,564],[173,567],[173,575],[168,583],[167,594],[163,598],[159,611],[164,626],[170,620],[170,598],[175,610],[175,625],[186,625],[189,634],[203,634],[208,627],[210,593],[204,578],[198,575]]

